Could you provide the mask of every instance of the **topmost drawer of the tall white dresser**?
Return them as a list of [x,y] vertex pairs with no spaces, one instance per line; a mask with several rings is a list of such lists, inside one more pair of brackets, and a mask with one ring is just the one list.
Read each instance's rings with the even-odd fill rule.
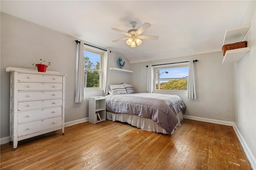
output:
[[18,73],[18,81],[26,81],[26,82],[62,82],[62,76]]

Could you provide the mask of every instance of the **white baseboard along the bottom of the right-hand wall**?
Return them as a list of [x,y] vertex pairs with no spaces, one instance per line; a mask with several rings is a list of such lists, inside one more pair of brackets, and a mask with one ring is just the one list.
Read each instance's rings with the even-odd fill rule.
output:
[[244,152],[248,158],[248,160],[250,161],[251,165],[252,165],[252,169],[256,170],[256,158],[254,158],[252,152],[250,151],[248,145],[246,144],[246,142],[244,141],[244,138],[242,137],[240,131],[238,130],[238,128],[236,127],[236,124],[234,124],[233,126],[235,132],[236,132],[236,136],[238,137]]

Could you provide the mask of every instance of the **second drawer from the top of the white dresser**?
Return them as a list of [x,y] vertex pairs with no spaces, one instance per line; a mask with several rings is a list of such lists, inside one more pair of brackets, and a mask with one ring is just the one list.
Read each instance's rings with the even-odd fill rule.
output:
[[62,90],[62,83],[18,82],[18,90]]

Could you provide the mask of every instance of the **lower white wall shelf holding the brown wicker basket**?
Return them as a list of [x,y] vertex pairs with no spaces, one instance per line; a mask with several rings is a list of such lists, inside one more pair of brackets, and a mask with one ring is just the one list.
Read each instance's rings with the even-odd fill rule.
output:
[[222,64],[238,63],[250,50],[251,47],[227,50]]

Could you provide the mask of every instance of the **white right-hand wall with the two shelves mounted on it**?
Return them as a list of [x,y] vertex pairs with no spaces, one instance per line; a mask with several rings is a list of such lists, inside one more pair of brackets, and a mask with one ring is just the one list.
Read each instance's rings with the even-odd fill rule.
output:
[[[242,24],[251,23],[243,41],[251,51],[235,64],[234,123],[243,141],[246,154],[256,169],[256,14],[255,1],[248,5]],[[244,121],[243,121],[244,119]]]

